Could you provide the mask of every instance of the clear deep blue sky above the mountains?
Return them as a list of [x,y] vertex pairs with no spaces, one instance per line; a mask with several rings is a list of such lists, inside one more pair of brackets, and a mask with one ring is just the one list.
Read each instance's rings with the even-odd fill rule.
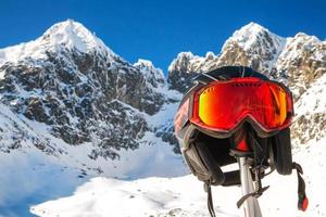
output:
[[249,22],[280,36],[298,31],[326,38],[326,1],[281,0],[48,0],[0,1],[0,48],[28,41],[73,18],[129,62],[151,60],[166,71],[180,51],[218,53]]

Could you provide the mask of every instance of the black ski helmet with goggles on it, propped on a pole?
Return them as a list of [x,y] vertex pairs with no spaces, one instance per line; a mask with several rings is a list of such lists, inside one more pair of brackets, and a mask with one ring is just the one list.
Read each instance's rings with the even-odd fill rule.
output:
[[291,174],[292,117],[292,94],[286,86],[249,67],[226,66],[193,80],[175,116],[175,135],[200,180],[229,186],[239,183],[238,171],[223,173],[221,167],[236,162],[230,150],[248,151],[241,146],[250,139],[243,128],[251,128],[271,152],[266,165],[273,162],[279,174]]

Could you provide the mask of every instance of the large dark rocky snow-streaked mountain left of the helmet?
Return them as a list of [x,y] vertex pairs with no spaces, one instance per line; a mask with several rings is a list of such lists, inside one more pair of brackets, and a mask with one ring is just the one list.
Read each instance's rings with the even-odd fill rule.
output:
[[[8,137],[3,152],[28,143],[50,155],[70,155],[65,143],[79,146],[89,161],[124,161],[120,151],[155,143],[166,120],[150,119],[161,110],[174,108],[180,98],[167,90],[162,71],[150,61],[134,65],[124,61],[71,20],[53,25],[35,41],[0,50],[0,75],[2,106],[21,120],[42,124],[49,133],[40,135],[30,124],[26,125],[37,136],[14,126],[17,138]],[[90,149],[83,149],[87,144]],[[97,170],[103,170],[100,167]]]

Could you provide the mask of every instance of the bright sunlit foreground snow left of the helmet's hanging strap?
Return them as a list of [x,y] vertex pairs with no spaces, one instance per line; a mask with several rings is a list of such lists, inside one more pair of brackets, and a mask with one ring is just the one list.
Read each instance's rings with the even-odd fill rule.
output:
[[205,201],[202,184],[191,176],[135,181],[99,177],[79,187],[73,196],[32,207],[32,212],[42,216],[164,216],[181,210],[205,216],[205,203],[200,201]]

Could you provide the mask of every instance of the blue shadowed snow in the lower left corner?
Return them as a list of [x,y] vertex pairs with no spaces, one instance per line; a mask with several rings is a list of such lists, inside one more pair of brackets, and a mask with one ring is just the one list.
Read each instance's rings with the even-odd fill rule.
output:
[[62,166],[35,148],[0,154],[0,216],[30,216],[29,206],[67,196],[88,177]]

